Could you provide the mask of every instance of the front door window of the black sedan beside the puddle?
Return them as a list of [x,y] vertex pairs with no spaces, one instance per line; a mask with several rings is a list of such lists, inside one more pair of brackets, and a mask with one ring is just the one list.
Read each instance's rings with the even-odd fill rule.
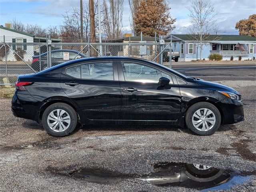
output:
[[122,63],[126,81],[158,83],[160,71],[137,63]]

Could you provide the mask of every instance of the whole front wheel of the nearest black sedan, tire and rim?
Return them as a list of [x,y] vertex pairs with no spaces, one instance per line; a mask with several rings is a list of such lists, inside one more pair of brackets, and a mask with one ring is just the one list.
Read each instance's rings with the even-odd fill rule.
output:
[[211,135],[220,127],[221,115],[213,104],[198,102],[188,108],[186,125],[198,135]]

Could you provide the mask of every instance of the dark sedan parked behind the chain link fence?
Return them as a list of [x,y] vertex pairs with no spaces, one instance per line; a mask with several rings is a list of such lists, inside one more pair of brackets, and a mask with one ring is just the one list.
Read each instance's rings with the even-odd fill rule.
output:
[[[63,62],[86,58],[86,56],[79,51],[69,49],[58,49],[51,51],[52,66],[61,64]],[[32,56],[31,67],[35,71],[41,71],[48,68],[47,62],[48,52],[42,53],[41,55]]]

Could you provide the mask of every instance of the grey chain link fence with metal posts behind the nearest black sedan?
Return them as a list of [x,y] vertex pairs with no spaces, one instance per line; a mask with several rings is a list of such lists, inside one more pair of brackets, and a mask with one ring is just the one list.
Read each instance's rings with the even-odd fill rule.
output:
[[171,44],[159,42],[45,42],[4,37],[0,42],[0,85],[15,84],[21,74],[35,73],[60,63],[87,57],[125,56],[170,66]]

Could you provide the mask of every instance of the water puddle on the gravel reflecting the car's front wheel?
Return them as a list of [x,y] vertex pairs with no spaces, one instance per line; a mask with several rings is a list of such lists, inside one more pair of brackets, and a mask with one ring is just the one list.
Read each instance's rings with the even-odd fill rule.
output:
[[250,176],[235,174],[200,164],[159,162],[152,164],[154,172],[141,176],[122,175],[100,169],[81,169],[71,175],[88,182],[115,183],[125,178],[143,180],[156,186],[180,186],[199,190],[224,190],[248,180]]

